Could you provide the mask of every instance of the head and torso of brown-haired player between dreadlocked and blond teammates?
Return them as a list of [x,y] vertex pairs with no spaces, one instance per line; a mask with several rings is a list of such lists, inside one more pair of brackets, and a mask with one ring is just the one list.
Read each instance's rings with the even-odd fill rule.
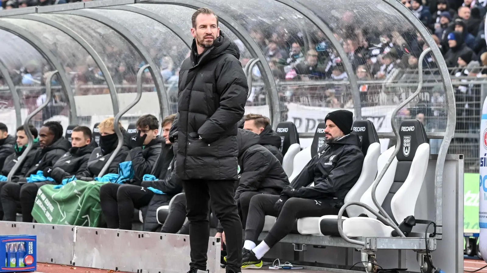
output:
[[[86,126],[76,126],[71,135],[71,149],[63,154],[53,166],[44,168],[45,177],[52,177],[57,184],[73,175],[82,175],[88,165],[88,159],[98,147],[92,139],[92,131]],[[34,196],[35,199],[35,196]],[[34,199],[32,199],[34,201]]]

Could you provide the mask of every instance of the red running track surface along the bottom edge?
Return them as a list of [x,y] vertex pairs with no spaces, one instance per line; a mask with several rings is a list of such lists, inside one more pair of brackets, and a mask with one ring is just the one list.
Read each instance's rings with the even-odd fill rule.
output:
[[[467,271],[474,271],[481,267],[486,266],[487,264],[482,260],[473,260],[473,259],[465,259],[464,261],[464,270]],[[247,272],[256,272],[251,270],[245,270]],[[262,271],[269,271],[261,269],[259,272]],[[113,270],[106,270],[106,269],[93,269],[93,268],[82,268],[82,267],[75,267],[75,266],[64,266],[64,265],[56,265],[56,264],[37,264],[37,271],[36,273],[112,273],[116,272]],[[225,270],[223,269],[223,272]],[[275,272],[275,271],[273,271]],[[286,271],[288,273],[295,272],[295,273],[311,273],[310,270],[296,270],[296,271]],[[487,273],[487,268],[477,271],[478,273]]]

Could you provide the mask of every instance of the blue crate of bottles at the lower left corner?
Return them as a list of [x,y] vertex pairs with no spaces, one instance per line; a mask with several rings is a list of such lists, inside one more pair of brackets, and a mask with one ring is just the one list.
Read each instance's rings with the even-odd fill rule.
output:
[[5,257],[0,272],[29,272],[37,270],[37,236],[0,236],[0,257]]

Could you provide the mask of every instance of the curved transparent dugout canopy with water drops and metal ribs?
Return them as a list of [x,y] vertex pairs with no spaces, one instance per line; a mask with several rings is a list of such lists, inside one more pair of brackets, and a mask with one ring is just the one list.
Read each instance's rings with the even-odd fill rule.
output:
[[[148,0],[135,4],[100,0],[5,11],[0,13],[0,35],[5,37],[0,40],[5,49],[0,52],[0,64],[13,72],[9,72],[12,81],[2,84],[15,85],[9,89],[16,88],[20,94],[19,102],[12,97],[17,109],[25,103],[23,92],[34,92],[23,90],[34,90],[37,85],[16,81],[19,75],[26,75],[16,71],[36,66],[36,72],[42,74],[57,69],[60,76],[53,86],[63,95],[53,103],[65,105],[57,114],[69,117],[70,123],[93,124],[93,119],[114,115],[131,102],[137,70],[147,64],[151,69],[145,73],[144,94],[127,113],[133,114],[128,121],[147,113],[163,118],[177,111],[177,71],[192,42],[191,15],[200,7],[215,11],[221,30],[241,50],[243,68],[259,60],[246,71],[252,84],[247,112],[269,116],[274,126],[289,120],[300,123],[300,133],[313,133],[307,116],[312,115],[316,123],[337,108],[353,111],[356,118],[388,123],[394,108],[417,88],[418,72],[390,83],[362,77],[357,72],[360,66],[354,63],[354,50],[363,46],[361,43],[369,41],[371,48],[377,46],[375,41],[388,39],[401,46],[401,54],[420,53],[431,47],[428,57],[437,72],[425,74],[422,88],[434,94],[434,105],[415,100],[409,108],[429,111],[426,129],[430,136],[452,135],[453,90],[444,60],[421,22],[395,0],[353,0],[346,4],[323,0]],[[376,31],[367,37],[356,31],[371,25]],[[424,41],[423,48],[411,42],[418,40]],[[19,46],[21,43],[25,46]],[[290,51],[299,44],[306,62],[312,62],[317,52],[318,62],[323,61],[325,67],[338,66],[346,77],[330,81],[301,75],[296,80],[293,68],[277,68],[283,64],[274,55],[276,44],[287,45]],[[327,63],[330,56],[339,57],[341,63]],[[5,69],[0,72],[6,73]],[[37,92],[42,92],[43,85],[41,80]],[[380,89],[393,99],[371,106],[369,101],[381,98],[378,94],[361,94],[364,85]],[[93,95],[100,96],[100,103],[109,103],[100,107],[93,102]],[[140,105],[145,98],[150,105]],[[319,103],[321,98],[337,98],[337,103]],[[386,134],[391,132],[388,128],[377,130]]]

